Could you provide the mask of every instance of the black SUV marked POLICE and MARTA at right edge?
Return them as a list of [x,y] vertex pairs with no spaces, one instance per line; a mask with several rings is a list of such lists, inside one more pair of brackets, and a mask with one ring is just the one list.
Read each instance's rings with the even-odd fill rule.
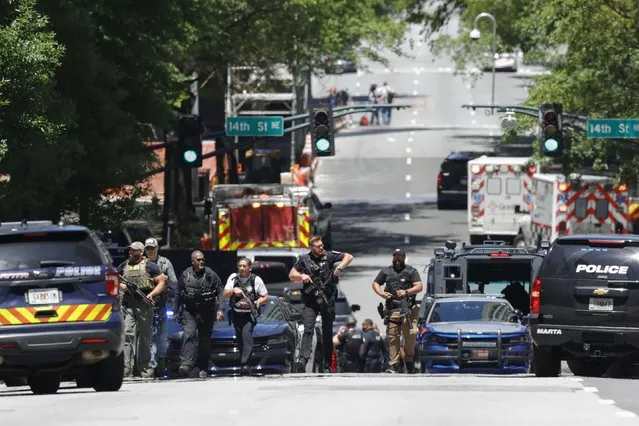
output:
[[613,361],[639,360],[639,236],[556,239],[530,295],[533,370],[601,376]]

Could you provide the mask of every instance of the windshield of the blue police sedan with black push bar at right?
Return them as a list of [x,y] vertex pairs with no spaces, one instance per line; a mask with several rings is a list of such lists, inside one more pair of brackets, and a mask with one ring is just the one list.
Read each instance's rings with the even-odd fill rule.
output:
[[433,307],[428,322],[508,322],[512,314],[510,305],[501,300],[438,302]]

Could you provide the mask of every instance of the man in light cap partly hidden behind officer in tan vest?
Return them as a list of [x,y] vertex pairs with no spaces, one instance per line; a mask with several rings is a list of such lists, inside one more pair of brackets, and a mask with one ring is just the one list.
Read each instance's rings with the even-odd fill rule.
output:
[[151,361],[149,368],[155,370],[156,376],[163,377],[166,363],[166,351],[169,348],[169,330],[166,321],[166,304],[170,296],[175,295],[177,277],[173,264],[169,259],[158,254],[159,244],[155,238],[147,238],[144,242],[146,258],[155,262],[166,277],[166,288],[155,301],[153,309],[153,343],[151,344]]

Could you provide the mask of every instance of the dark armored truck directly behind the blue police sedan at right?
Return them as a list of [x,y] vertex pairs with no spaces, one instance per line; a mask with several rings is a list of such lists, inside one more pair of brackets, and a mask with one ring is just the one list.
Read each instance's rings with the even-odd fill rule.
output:
[[462,243],[457,248],[456,243],[447,241],[445,248],[435,249],[435,257],[426,267],[426,294],[504,294],[516,309],[526,313],[530,286],[546,248],[527,249],[494,240],[479,245]]

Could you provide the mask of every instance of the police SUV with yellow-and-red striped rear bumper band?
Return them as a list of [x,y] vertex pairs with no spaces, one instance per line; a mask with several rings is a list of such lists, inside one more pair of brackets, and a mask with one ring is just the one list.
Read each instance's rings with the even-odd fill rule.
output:
[[0,223],[0,380],[55,393],[63,377],[122,386],[119,277],[97,235],[50,221]]

